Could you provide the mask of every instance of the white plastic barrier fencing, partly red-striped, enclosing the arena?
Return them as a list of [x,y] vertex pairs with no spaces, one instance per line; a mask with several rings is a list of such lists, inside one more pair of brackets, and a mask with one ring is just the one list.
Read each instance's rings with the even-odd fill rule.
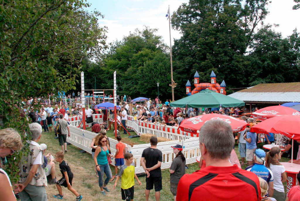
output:
[[[103,117],[101,114],[93,115],[94,121],[102,122]],[[93,138],[96,136],[95,133],[92,133],[81,128],[77,128],[81,122],[80,116],[73,117],[70,119],[70,138],[67,138],[67,142],[79,147],[82,150],[85,150],[88,153],[91,153],[90,144]],[[167,169],[170,167],[175,154],[173,153],[173,148],[176,144],[180,144],[183,147],[183,153],[186,158],[186,164],[196,162],[196,157],[200,155],[199,149],[199,140],[198,138],[187,136],[180,129],[172,126],[166,126],[164,128],[159,128],[159,125],[153,123],[144,123],[141,121],[134,120],[133,116],[128,116],[126,122],[126,127],[134,130],[137,135],[142,135],[144,133],[150,133],[158,137],[169,138],[172,141],[159,142],[157,148],[162,151],[163,162],[161,164],[161,169]],[[109,138],[110,149],[112,154],[116,153],[116,144],[118,141],[115,139]],[[125,144],[125,143],[124,143]],[[135,162],[135,171],[136,173],[144,172],[144,169],[141,164],[141,157],[143,150],[147,147],[150,147],[150,144],[137,144],[131,147],[128,144],[125,144],[125,152],[130,152],[134,155]],[[113,164],[115,163],[114,159],[112,160]]]

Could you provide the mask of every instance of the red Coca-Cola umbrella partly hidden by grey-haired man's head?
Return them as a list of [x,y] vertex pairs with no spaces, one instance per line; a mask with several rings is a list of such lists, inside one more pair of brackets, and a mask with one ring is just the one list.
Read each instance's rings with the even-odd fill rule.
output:
[[226,116],[222,114],[205,114],[184,119],[179,125],[179,128],[184,132],[196,134],[196,132],[202,127],[203,124],[205,124],[205,122],[214,119],[220,119],[224,122],[227,122],[229,125],[231,125],[233,132],[242,131],[247,125],[249,125],[245,121],[232,116]]

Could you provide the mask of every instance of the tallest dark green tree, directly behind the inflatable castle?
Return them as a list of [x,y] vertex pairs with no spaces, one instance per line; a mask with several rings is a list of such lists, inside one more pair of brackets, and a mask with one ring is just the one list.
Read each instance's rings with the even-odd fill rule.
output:
[[[184,96],[185,83],[196,70],[218,70],[217,81],[244,85],[240,75],[248,61],[244,54],[253,40],[255,27],[267,15],[267,0],[190,0],[172,15],[172,27],[182,37],[174,41],[176,91]],[[210,73],[210,72],[209,72]],[[200,81],[208,82],[200,77]]]

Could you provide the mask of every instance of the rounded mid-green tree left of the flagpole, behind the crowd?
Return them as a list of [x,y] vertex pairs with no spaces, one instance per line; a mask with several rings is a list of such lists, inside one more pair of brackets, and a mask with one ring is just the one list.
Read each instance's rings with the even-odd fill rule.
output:
[[[157,96],[157,82],[160,82],[160,97],[170,96],[170,57],[168,47],[157,29],[145,27],[136,29],[121,42],[113,43],[110,52],[99,64],[103,88],[112,88],[113,72],[117,71],[118,94],[131,97]],[[169,80],[169,81],[168,81]]]

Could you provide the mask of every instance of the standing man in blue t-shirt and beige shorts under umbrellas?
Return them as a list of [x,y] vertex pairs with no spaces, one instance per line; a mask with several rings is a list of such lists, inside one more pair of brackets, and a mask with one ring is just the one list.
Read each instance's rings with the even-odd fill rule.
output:
[[246,160],[248,165],[252,165],[254,162],[254,151],[257,148],[256,135],[256,133],[250,132],[249,129],[247,129],[246,134],[244,134],[244,140],[246,140]]

